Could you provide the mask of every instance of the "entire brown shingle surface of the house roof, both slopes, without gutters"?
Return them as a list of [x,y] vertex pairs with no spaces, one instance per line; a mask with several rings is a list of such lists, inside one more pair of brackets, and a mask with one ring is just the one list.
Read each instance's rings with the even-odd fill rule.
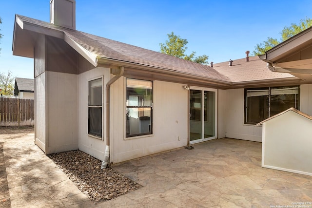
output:
[[20,15],[17,15],[17,17],[21,21],[63,32],[68,38],[94,54],[95,57],[156,67],[229,83],[294,77],[290,74],[270,71],[267,69],[266,63],[260,60],[259,57],[249,57],[249,62],[246,62],[245,58],[236,59],[231,67],[228,62],[217,63],[212,68],[208,65],[194,63],[77,30],[70,30],[37,19]]

